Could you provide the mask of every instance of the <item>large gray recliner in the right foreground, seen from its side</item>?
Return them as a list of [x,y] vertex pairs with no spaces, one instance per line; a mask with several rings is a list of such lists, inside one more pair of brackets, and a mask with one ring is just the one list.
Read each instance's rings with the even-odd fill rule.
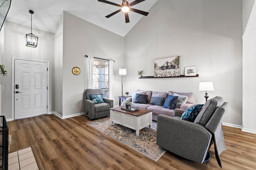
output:
[[[208,150],[214,143],[215,156],[221,167],[219,155],[226,150],[222,117],[227,110],[228,102],[216,96],[204,104],[194,122],[158,115],[156,143],[178,156],[200,163],[210,158]],[[181,116],[184,111],[175,109],[174,116]]]

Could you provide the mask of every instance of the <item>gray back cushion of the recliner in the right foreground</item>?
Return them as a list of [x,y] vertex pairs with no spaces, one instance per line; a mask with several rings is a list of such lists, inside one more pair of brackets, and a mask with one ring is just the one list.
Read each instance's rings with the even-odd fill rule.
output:
[[206,125],[209,119],[212,117],[214,111],[217,109],[218,106],[221,106],[224,103],[224,100],[216,96],[210,100],[207,100],[198,116],[196,117],[194,123],[199,123],[200,125]]

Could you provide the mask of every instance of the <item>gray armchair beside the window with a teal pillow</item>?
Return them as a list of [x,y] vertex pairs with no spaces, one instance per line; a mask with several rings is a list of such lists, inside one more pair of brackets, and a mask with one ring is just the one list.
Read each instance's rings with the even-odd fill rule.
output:
[[99,119],[110,115],[110,108],[113,107],[113,100],[103,98],[105,103],[94,104],[89,95],[103,94],[102,89],[84,90],[84,113],[89,119]]

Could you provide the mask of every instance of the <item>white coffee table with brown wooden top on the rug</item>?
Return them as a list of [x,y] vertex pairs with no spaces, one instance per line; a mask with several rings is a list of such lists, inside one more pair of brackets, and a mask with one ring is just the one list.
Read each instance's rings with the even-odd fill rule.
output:
[[110,122],[123,125],[136,131],[136,135],[139,136],[140,129],[149,126],[151,128],[152,123],[152,110],[139,109],[137,111],[126,111],[120,107],[110,108]]

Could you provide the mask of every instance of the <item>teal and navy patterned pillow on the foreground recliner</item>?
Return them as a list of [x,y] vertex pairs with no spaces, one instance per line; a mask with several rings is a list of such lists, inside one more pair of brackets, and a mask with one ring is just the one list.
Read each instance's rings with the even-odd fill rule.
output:
[[196,116],[198,115],[200,109],[203,107],[203,104],[197,104],[194,106],[189,107],[181,116],[180,119],[194,122]]

